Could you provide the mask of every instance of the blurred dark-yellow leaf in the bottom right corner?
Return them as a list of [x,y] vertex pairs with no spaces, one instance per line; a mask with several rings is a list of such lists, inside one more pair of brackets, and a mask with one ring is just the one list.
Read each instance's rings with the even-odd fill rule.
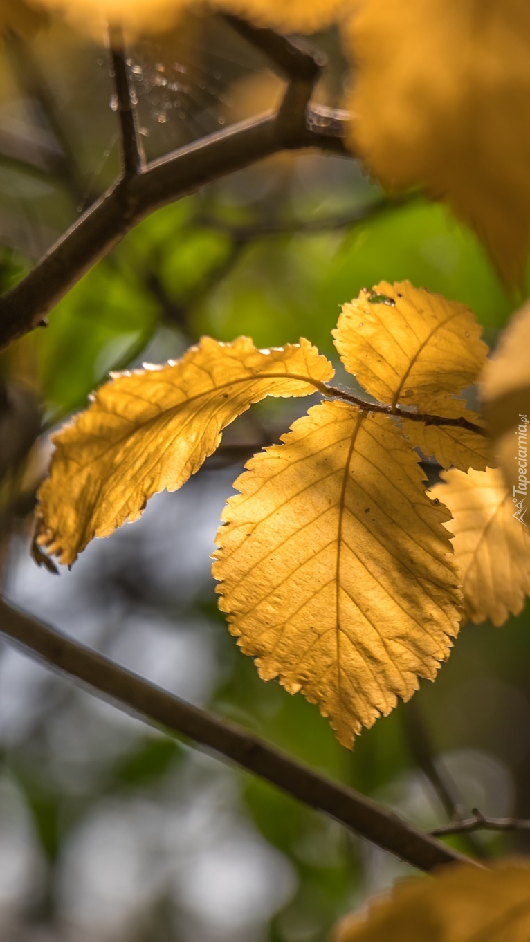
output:
[[433,879],[398,884],[362,914],[343,919],[331,942],[528,942],[530,866],[455,864]]

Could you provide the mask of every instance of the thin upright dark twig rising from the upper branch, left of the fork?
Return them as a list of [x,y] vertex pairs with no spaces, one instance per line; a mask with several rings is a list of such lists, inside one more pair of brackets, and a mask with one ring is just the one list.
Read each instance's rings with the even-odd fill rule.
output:
[[124,56],[124,33],[121,26],[108,27],[110,64],[116,89],[116,110],[122,133],[122,161],[124,177],[139,173],[145,164],[141,138],[138,133],[136,107],[132,98]]

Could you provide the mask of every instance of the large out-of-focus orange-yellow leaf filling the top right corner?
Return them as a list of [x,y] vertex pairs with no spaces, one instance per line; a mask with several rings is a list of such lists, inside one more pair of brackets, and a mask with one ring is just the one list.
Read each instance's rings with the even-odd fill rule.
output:
[[390,189],[425,187],[511,283],[530,240],[530,5],[356,0],[350,139]]

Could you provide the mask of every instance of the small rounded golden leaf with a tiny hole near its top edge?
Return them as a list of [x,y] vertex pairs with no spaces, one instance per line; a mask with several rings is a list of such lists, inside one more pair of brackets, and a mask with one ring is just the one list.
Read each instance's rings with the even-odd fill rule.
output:
[[335,346],[371,396],[423,413],[451,409],[475,381],[488,348],[464,304],[410,282],[380,282],[344,304]]

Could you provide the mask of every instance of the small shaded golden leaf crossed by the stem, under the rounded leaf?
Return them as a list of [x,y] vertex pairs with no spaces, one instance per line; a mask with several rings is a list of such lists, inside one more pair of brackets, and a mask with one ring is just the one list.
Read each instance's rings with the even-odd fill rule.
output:
[[[455,406],[449,410],[441,410],[439,414],[450,418],[464,418],[467,422],[479,428],[484,428],[480,416],[467,408],[464,399],[454,399]],[[421,448],[427,458],[434,456],[443,468],[455,467],[461,471],[475,468],[484,471],[491,463],[489,456],[489,440],[480,432],[463,429],[451,425],[425,425],[412,419],[403,419],[402,428],[409,442],[414,447]]]

